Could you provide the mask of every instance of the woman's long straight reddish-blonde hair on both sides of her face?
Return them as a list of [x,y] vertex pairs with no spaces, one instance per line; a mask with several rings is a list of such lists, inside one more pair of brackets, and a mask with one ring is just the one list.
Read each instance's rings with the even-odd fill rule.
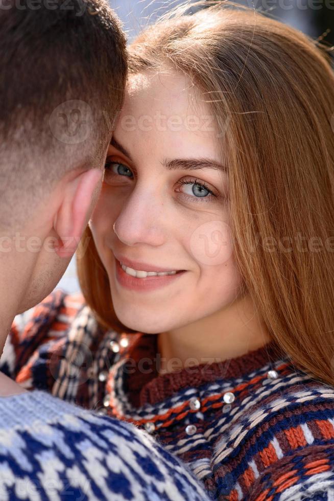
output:
[[[225,130],[231,235],[245,286],[283,352],[334,384],[330,50],[231,2],[185,11],[164,16],[130,45],[130,74],[173,65],[201,90]],[[132,332],[117,321],[89,229],[84,238],[90,243],[78,270],[88,305],[105,327]]]

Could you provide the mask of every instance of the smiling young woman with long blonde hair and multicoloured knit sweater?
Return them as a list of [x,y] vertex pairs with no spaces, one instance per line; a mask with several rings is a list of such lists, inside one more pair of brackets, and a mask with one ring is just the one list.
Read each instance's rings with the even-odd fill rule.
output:
[[213,499],[334,493],[327,52],[225,2],[142,33],[85,304],[53,294],[6,347],[16,381],[145,427]]

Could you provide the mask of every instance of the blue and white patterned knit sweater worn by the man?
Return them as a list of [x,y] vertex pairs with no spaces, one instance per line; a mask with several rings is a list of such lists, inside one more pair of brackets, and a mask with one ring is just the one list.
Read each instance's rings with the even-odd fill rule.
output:
[[0,398],[0,499],[202,501],[145,431],[32,391]]

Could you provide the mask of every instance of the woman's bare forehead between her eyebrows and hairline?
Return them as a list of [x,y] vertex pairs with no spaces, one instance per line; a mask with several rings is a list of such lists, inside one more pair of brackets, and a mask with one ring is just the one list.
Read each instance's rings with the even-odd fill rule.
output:
[[190,78],[176,71],[130,76],[115,138],[134,160],[148,149],[161,158],[221,157],[216,117]]

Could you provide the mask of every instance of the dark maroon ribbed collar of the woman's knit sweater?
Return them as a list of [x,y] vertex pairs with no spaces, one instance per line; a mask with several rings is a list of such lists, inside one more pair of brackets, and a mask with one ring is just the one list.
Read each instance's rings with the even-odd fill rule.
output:
[[108,384],[114,405],[119,407],[119,411],[123,409],[121,414],[130,416],[140,408],[150,408],[154,412],[153,409],[157,410],[162,402],[166,405],[166,400],[190,388],[196,390],[217,379],[242,378],[268,363],[286,358],[286,354],[272,340],[261,348],[220,363],[202,363],[159,375],[156,343],[156,335],[132,334],[128,348],[121,350],[121,359],[115,364]]

